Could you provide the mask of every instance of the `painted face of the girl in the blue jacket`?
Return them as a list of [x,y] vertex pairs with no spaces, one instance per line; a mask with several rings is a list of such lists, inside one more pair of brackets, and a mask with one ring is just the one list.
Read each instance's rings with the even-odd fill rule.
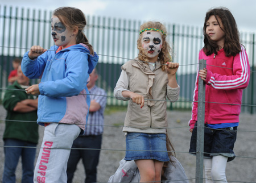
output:
[[76,38],[72,36],[71,29],[65,27],[65,25],[60,22],[60,19],[55,15],[51,18],[51,27],[52,38],[55,41],[55,45],[65,48],[68,45],[76,44]]

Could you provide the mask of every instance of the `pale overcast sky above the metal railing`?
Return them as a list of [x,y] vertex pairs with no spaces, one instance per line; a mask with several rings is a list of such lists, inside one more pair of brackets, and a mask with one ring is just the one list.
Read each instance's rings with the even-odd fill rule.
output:
[[[3,2],[3,1],[2,1]],[[203,27],[205,13],[212,7],[227,7],[240,31],[256,32],[256,0],[7,0],[1,6],[54,10],[60,6],[81,9],[85,15]]]

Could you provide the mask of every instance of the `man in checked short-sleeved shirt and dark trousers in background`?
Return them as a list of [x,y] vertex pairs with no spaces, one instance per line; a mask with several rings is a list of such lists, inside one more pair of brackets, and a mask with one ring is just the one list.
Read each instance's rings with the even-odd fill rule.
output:
[[[68,183],[72,182],[77,163],[79,163],[80,159],[82,159],[85,168],[85,182],[97,182],[97,165],[100,150],[90,149],[101,148],[102,132],[104,128],[104,110],[106,106],[106,97],[104,97],[106,96],[106,92],[95,85],[97,79],[97,70],[94,69],[90,74],[90,81],[87,84],[87,88],[90,94],[92,94],[90,95],[88,122],[84,134],[74,140],[72,145],[72,148],[83,149],[71,149],[67,168]],[[90,149],[86,150],[84,148]]]

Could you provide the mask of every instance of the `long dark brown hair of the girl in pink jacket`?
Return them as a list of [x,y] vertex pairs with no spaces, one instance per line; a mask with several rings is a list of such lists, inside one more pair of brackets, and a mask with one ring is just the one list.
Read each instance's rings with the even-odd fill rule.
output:
[[205,16],[204,20],[204,53],[205,55],[211,55],[212,53],[217,54],[219,49],[217,43],[215,41],[210,40],[209,36],[206,33],[207,29],[207,21],[210,16],[214,15],[218,25],[221,30],[224,31],[224,51],[227,57],[236,56],[239,52],[241,52],[240,45],[240,34],[237,28],[236,20],[234,16],[225,7],[219,7],[216,9],[209,10]]

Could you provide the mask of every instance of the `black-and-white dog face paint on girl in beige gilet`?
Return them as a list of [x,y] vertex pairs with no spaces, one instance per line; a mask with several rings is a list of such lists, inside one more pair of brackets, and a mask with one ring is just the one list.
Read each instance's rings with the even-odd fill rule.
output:
[[142,35],[141,44],[148,58],[157,59],[162,49],[162,36],[156,31],[145,31]]

